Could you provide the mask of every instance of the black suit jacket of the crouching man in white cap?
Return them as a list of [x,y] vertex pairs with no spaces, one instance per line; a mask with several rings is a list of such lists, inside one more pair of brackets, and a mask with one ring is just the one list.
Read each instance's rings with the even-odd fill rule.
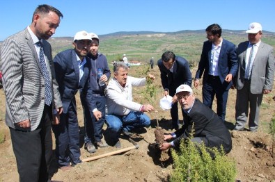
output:
[[206,147],[217,147],[220,149],[221,144],[226,153],[232,149],[231,135],[216,113],[201,101],[195,99],[194,106],[184,118],[184,125],[175,135],[179,136],[174,140],[176,147],[180,146],[182,138],[187,139],[191,136],[192,126],[194,124],[193,137],[200,137]]

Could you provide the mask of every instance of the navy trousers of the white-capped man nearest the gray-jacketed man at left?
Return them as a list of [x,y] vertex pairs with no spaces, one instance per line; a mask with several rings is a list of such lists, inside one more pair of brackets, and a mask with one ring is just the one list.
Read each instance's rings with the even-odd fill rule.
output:
[[68,113],[62,113],[60,124],[53,125],[52,129],[56,137],[56,157],[60,167],[81,163],[79,149],[79,124],[77,111],[72,103]]

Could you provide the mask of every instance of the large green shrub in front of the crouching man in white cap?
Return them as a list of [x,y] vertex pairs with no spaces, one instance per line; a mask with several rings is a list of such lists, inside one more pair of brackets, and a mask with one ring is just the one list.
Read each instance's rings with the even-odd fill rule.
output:
[[[210,155],[214,154],[214,159]],[[235,181],[235,161],[217,148],[196,145],[191,140],[180,143],[180,151],[172,149],[173,172],[170,181]]]

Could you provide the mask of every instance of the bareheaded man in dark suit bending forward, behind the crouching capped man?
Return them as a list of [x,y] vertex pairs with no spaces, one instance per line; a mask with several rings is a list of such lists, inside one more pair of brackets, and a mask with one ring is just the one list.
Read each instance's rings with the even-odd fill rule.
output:
[[[191,86],[192,76],[187,60],[180,56],[175,56],[171,51],[166,51],[162,54],[162,59],[157,61],[162,78],[162,87],[164,95],[168,94],[173,97],[173,106],[170,110],[172,117],[172,129],[179,129],[178,122],[178,103],[175,97],[175,89],[181,84]],[[183,114],[183,113],[182,113]]]

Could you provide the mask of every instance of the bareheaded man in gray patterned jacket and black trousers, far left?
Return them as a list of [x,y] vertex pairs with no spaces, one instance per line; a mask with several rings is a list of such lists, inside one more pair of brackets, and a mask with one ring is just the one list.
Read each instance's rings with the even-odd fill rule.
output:
[[52,124],[58,124],[62,102],[55,79],[52,47],[46,40],[63,17],[40,5],[31,25],[6,38],[1,49],[6,124],[17,161],[19,181],[48,181]]

